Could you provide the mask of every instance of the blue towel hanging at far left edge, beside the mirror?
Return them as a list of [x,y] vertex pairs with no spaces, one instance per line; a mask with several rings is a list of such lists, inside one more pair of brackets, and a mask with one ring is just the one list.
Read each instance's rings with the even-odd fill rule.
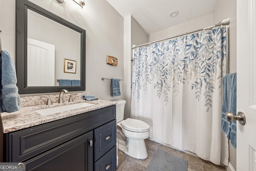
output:
[[21,108],[18,94],[17,76],[12,57],[5,50],[1,51],[0,58],[1,86],[0,86],[0,113],[14,112]]

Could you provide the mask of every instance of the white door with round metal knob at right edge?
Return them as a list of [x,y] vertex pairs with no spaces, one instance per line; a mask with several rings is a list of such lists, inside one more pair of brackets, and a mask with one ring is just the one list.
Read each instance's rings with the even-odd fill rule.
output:
[[237,0],[237,108],[246,117],[237,122],[236,169],[256,171],[256,2]]

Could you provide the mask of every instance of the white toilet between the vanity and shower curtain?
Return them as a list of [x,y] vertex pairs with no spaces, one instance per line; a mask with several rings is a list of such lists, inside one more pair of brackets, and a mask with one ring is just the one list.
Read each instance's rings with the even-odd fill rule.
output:
[[138,119],[124,119],[125,100],[115,100],[116,135],[119,137],[118,149],[136,159],[146,159],[148,152],[144,139],[150,135],[149,125]]

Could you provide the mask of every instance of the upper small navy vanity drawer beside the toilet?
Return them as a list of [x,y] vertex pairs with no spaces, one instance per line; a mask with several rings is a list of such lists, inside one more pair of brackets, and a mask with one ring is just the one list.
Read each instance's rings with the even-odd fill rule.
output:
[[94,129],[94,161],[116,145],[116,119]]

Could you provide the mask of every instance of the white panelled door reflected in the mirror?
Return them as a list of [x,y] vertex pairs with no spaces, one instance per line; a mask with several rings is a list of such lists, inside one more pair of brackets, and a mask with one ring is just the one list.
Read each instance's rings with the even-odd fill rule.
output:
[[54,86],[55,46],[28,38],[27,86]]

